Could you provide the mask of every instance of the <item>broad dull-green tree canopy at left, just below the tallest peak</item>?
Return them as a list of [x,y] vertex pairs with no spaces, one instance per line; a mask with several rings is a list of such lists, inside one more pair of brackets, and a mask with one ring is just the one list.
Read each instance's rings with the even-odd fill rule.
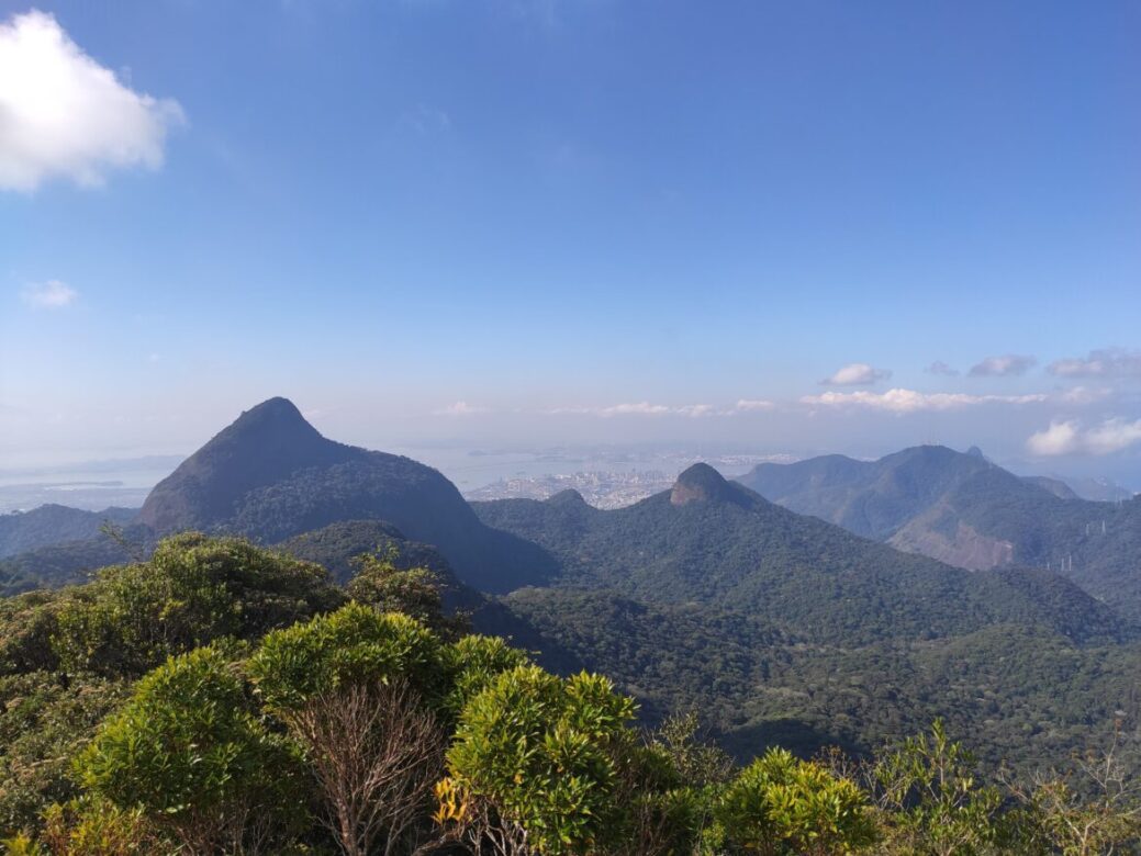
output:
[[141,675],[172,654],[258,638],[343,600],[318,565],[188,532],[161,541],[147,562],[105,569],[65,601],[54,646],[68,672]]

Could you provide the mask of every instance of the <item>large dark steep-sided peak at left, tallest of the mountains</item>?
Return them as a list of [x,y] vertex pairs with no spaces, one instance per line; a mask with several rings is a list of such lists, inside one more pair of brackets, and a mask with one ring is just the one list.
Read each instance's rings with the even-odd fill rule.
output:
[[438,471],[326,440],[292,402],[265,401],[187,458],[147,497],[155,535],[200,529],[273,544],[347,520],[383,520],[432,544],[487,592],[541,581],[541,551],[483,525]]

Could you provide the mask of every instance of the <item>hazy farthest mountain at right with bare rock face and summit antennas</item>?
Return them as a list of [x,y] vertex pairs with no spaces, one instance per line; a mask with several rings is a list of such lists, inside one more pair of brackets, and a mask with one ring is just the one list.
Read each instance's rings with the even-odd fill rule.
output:
[[798,513],[949,564],[1047,568],[1141,620],[1141,499],[1066,496],[941,446],[872,462],[761,464],[738,481]]

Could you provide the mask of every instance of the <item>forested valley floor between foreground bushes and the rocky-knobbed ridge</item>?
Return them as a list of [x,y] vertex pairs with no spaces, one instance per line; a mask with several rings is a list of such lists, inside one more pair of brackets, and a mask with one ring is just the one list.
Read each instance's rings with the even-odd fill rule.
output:
[[790,633],[747,610],[609,590],[527,588],[503,605],[513,626],[478,613],[477,627],[521,638],[556,671],[609,675],[648,722],[699,710],[741,758],[774,744],[871,752],[941,717],[972,735],[989,768],[1033,769],[1109,747],[1141,719],[1141,645],[1078,645],[1043,625],[820,644],[811,628]]

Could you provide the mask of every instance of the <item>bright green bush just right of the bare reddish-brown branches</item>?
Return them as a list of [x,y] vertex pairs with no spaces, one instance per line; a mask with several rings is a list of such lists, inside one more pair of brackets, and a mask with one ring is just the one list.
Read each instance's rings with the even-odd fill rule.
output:
[[467,706],[448,771],[540,853],[597,851],[620,829],[617,757],[632,716],[633,702],[604,677],[518,667]]

